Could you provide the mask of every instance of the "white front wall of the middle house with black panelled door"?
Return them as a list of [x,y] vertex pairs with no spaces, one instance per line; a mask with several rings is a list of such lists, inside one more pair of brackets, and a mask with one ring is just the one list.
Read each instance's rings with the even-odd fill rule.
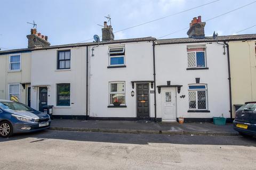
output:
[[[116,46],[120,44],[115,44]],[[114,45],[114,46],[115,46]],[[91,117],[137,117],[136,83],[131,81],[154,80],[152,43],[127,43],[125,45],[125,65],[122,68],[107,68],[108,48],[113,45],[95,47],[91,56],[90,47],[90,116]],[[125,105],[122,108],[109,108],[109,82],[125,82]],[[151,88],[149,83],[149,90]],[[134,91],[134,96],[131,92]],[[150,93],[150,91],[149,91]],[[149,94],[150,117],[154,114],[154,94]]]

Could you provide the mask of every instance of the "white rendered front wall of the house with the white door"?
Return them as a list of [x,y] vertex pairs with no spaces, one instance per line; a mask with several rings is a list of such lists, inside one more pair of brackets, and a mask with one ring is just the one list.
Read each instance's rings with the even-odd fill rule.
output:
[[[206,62],[209,70],[187,70],[187,45],[206,45]],[[223,55],[223,47],[216,43],[210,44],[174,44],[156,45],[156,83],[157,86],[182,85],[177,90],[177,117],[212,118],[213,116],[230,117],[227,54]],[[208,109],[210,113],[189,113],[188,84],[207,84]],[[157,117],[162,117],[162,92],[157,92]]]

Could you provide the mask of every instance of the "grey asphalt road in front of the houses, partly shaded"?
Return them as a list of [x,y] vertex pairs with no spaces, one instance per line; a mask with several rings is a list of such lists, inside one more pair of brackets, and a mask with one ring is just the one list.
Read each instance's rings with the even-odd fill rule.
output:
[[0,138],[0,169],[255,169],[256,138],[44,130]]

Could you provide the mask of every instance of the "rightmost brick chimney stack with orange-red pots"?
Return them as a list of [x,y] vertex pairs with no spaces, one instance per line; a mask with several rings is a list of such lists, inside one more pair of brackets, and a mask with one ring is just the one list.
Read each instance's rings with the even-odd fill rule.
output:
[[189,38],[204,38],[204,26],[205,22],[202,22],[201,16],[197,16],[193,18],[193,20],[189,23],[189,30],[187,35]]

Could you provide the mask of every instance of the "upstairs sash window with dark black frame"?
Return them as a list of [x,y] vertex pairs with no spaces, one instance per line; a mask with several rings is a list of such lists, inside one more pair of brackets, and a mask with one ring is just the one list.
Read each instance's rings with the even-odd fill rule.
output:
[[58,51],[57,69],[70,69],[70,50]]

